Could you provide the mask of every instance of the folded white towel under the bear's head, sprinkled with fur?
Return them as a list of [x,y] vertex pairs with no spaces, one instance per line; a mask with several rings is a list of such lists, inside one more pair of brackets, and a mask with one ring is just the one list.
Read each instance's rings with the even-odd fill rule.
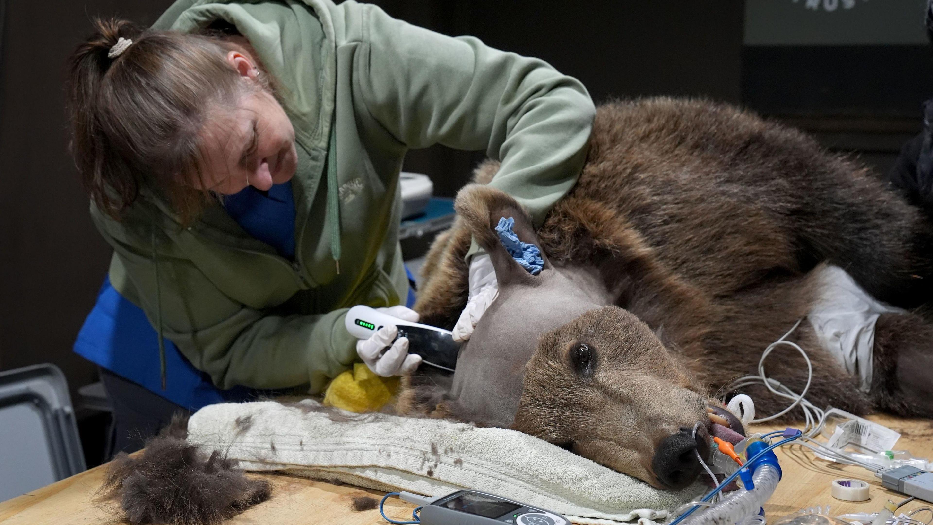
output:
[[516,431],[356,415],[312,400],[205,406],[188,421],[188,441],[225,450],[246,470],[428,496],[482,490],[592,525],[636,519],[652,524],[703,492],[700,484],[657,490]]

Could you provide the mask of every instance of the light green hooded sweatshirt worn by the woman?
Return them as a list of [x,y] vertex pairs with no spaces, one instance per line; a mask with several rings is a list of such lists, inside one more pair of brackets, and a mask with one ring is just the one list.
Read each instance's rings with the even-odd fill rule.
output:
[[408,290],[397,235],[409,149],[484,149],[502,163],[491,185],[538,223],[579,175],[595,110],[544,62],[353,1],[179,0],[153,27],[217,20],[253,45],[295,128],[295,260],[222,206],[183,228],[144,192],[123,220],[91,216],[115,251],[113,286],[221,389],[316,393],[357,361],[347,308]]

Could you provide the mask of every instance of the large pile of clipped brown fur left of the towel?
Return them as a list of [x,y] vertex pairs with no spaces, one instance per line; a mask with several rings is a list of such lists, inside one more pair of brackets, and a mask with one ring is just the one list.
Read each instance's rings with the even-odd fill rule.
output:
[[268,481],[247,477],[219,450],[207,454],[177,434],[153,438],[138,458],[120,454],[102,489],[130,523],[177,525],[216,525],[271,494]]

